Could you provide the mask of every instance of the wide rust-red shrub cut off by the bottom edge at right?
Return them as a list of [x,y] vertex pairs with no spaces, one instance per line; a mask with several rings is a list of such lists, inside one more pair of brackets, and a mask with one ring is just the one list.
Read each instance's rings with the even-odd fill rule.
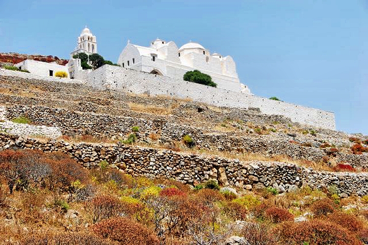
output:
[[340,225],[314,219],[305,222],[283,222],[274,230],[279,244],[361,245],[356,237]]

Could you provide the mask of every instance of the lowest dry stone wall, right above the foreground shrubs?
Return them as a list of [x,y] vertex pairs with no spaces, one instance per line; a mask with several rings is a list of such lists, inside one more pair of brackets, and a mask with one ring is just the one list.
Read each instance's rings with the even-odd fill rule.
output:
[[336,186],[339,193],[366,195],[368,173],[319,172],[294,164],[278,162],[241,162],[209,155],[178,153],[147,147],[106,144],[71,144],[64,141],[23,138],[0,133],[0,149],[62,151],[85,167],[107,161],[135,176],[175,178],[195,184],[217,179],[223,185],[261,189],[268,186],[295,190],[302,185],[312,188]]

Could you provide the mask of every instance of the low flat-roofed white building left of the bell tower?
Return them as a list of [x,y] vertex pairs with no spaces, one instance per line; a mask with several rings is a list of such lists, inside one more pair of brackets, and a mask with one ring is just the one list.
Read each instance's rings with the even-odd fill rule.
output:
[[48,63],[48,62],[43,62],[43,61],[26,59],[22,62],[19,62],[15,66],[18,68],[21,67],[22,70],[27,70],[31,74],[40,75],[40,76],[48,76],[48,77],[50,77],[49,75],[50,70],[53,71],[53,76],[55,76],[55,73],[58,71],[64,71],[68,74],[68,77],[69,77],[68,66],[59,65],[56,63]]

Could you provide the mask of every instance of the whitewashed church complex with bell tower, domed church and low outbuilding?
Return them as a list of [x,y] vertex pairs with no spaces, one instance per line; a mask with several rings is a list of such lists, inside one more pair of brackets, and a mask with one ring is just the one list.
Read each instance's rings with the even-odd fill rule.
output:
[[[68,77],[85,80],[91,70],[83,70],[79,58],[75,54],[97,54],[97,39],[88,27],[85,27],[79,37],[77,46],[70,53],[66,66],[34,60],[25,60],[16,66],[42,76],[54,76],[56,71],[66,71]],[[183,80],[187,71],[199,70],[211,76],[218,88],[250,94],[248,87],[240,83],[234,59],[227,55],[213,53],[202,45],[189,42],[182,47],[173,42],[156,39],[149,47],[129,43],[121,52],[118,64],[125,69],[158,74],[160,76]]]

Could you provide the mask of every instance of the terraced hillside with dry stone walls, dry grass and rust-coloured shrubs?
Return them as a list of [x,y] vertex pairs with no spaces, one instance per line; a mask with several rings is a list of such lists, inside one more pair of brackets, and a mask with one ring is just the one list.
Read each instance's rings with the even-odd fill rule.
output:
[[4,244],[368,242],[368,136],[17,76],[0,106]]

